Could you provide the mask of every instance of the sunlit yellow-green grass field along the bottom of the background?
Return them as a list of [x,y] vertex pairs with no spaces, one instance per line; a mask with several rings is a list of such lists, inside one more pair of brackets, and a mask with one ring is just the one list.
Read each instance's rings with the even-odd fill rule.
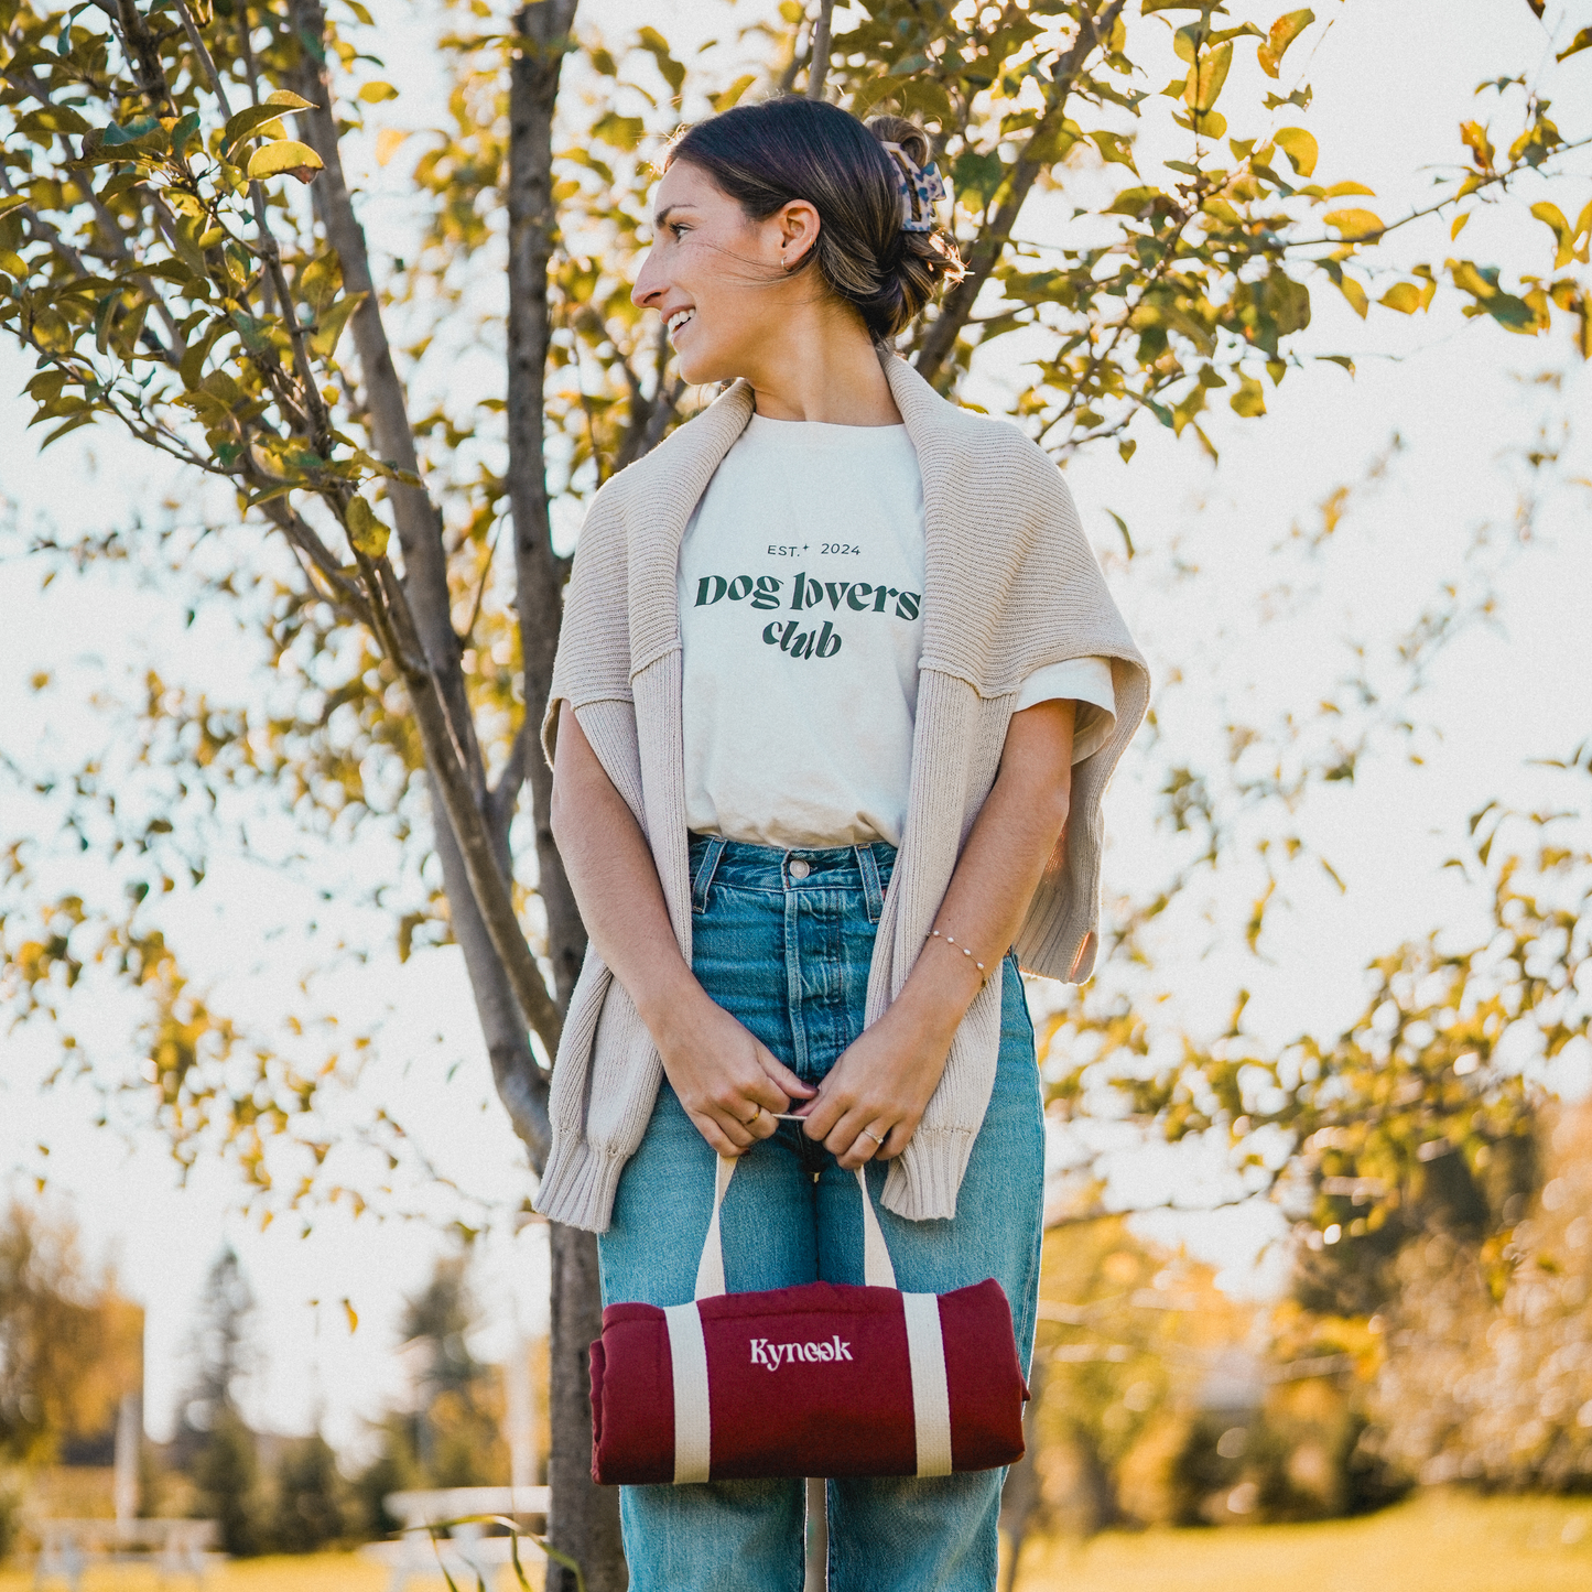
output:
[[[525,1557],[529,1570],[537,1555]],[[1019,1592],[1587,1592],[1592,1498],[1436,1495],[1323,1525],[1106,1533],[1087,1544],[1033,1543],[1022,1571]],[[541,1584],[540,1568],[530,1579]],[[505,1573],[494,1592],[509,1592],[511,1581]],[[205,1582],[209,1592],[384,1592],[387,1584],[380,1565],[350,1554],[259,1559]],[[30,1571],[0,1571],[0,1592],[29,1587]],[[91,1571],[83,1582],[83,1592],[154,1587],[153,1574],[131,1570]],[[441,1576],[417,1578],[409,1592],[446,1589]]]

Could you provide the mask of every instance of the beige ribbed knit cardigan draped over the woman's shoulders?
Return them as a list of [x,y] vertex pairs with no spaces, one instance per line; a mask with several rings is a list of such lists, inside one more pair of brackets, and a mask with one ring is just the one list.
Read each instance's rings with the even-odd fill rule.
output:
[[[1116,734],[1073,769],[1071,817],[1016,941],[1022,966],[1063,981],[1094,970],[1100,798],[1145,715],[1149,675],[1089,549],[1055,465],[1016,427],[958,409],[909,365],[884,360],[923,476],[927,573],[912,783],[868,979],[866,1020],[901,990],[928,938],[973,820],[995,782],[1024,678],[1106,657]],[[592,500],[575,554],[543,721],[551,759],[562,704],[575,712],[648,837],[680,952],[691,960],[691,880],[677,600],[680,540],[753,412],[737,382]],[[992,958],[993,960],[993,958]],[[954,1216],[995,1083],[1000,962],[974,997],[944,1076],[884,1202]],[[537,1210],[602,1232],[626,1161],[653,1114],[662,1063],[624,987],[595,952],[570,998],[552,1070],[552,1149]]]

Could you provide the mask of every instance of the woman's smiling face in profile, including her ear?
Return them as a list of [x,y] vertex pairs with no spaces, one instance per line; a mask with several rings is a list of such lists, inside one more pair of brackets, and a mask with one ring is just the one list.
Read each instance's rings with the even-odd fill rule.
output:
[[691,385],[755,376],[793,291],[810,293],[786,272],[817,237],[810,204],[748,221],[707,172],[675,161],[653,197],[653,247],[630,298],[662,315]]

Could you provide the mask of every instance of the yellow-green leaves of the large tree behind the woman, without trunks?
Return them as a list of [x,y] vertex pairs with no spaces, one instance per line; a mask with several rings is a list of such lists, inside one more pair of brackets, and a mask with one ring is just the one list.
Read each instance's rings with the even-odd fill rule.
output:
[[[1579,217],[1571,223],[1563,205],[1535,204],[1552,271],[1519,291],[1473,261],[1396,269],[1383,239],[1412,218],[1383,226],[1363,209],[1331,209],[1356,185],[1313,180],[1329,151],[1302,126],[1310,89],[1297,64],[1329,21],[1299,10],[1267,27],[1219,27],[1219,13],[1149,5],[1134,14],[1121,0],[1022,8],[887,0],[836,35],[829,92],[860,111],[923,118],[957,185],[955,226],[971,274],[909,339],[920,369],[955,385],[976,349],[1020,334],[1038,357],[1014,414],[1065,455],[1103,439],[1130,451],[1140,412],[1176,431],[1192,425],[1208,443],[1202,416],[1221,390],[1239,416],[1262,412],[1261,377],[1282,380],[1297,358],[1290,341],[1309,323],[1312,291],[1342,290],[1366,314],[1361,277],[1372,269],[1379,280],[1396,277],[1379,301],[1390,310],[1426,309],[1442,280],[1468,312],[1495,325],[1544,331],[1557,309],[1584,341],[1574,267],[1586,263],[1592,207],[1570,202]],[[263,1143],[307,1116],[339,1073],[285,1062],[282,1046],[263,1036],[245,1041],[186,985],[150,923],[174,880],[202,877],[215,844],[204,798],[213,807],[228,790],[269,793],[310,831],[352,837],[374,823],[408,845],[430,734],[411,713],[425,720],[438,693],[455,707],[462,693],[473,708],[465,761],[479,742],[482,767],[511,775],[505,799],[521,777],[524,638],[492,552],[508,498],[487,446],[501,427],[501,400],[471,401],[444,382],[430,409],[416,404],[420,452],[412,470],[400,468],[382,458],[380,404],[365,369],[385,357],[384,314],[404,326],[408,342],[396,352],[416,390],[438,387],[438,360],[457,355],[462,325],[489,342],[500,336],[500,310],[490,301],[478,307],[474,283],[501,261],[505,68],[516,35],[482,27],[465,10],[444,14],[454,89],[449,123],[425,135],[414,166],[428,205],[423,236],[412,259],[371,275],[344,259],[345,240],[326,231],[336,204],[322,204],[317,218],[295,199],[298,183],[277,175],[298,172],[341,204],[339,140],[368,119],[382,123],[387,100],[401,105],[404,86],[369,73],[358,13],[328,19],[318,6],[272,3],[199,14],[175,0],[116,19],[92,6],[62,18],[19,0],[5,13],[0,116],[13,137],[0,228],[11,271],[0,279],[0,322],[38,357],[38,419],[51,438],[118,419],[148,446],[236,489],[245,521],[279,535],[288,557],[228,532],[236,551],[196,600],[244,597],[266,656],[296,685],[285,712],[261,713],[151,680],[132,716],[143,726],[140,763],[161,775],[151,785],[154,817],[94,826],[94,844],[137,858],[132,906],[110,914],[76,898],[53,903],[18,852],[13,893],[30,904],[38,938],[8,944],[10,977],[24,1013],[48,1011],[94,958],[143,989],[158,1013],[146,1043],[174,1140],[199,1153],[197,1124],[236,1127],[237,1164],[261,1186],[271,1183]],[[667,376],[667,347],[643,338],[626,288],[645,239],[648,151],[681,108],[696,115],[799,81],[807,19],[793,6],[782,18],[707,51],[693,72],[656,32],[630,48],[597,35],[559,45],[576,51],[584,75],[579,94],[565,97],[554,159],[562,231],[548,266],[552,497],[584,495],[675,416],[681,392]],[[323,43],[307,53],[306,37]],[[1251,48],[1258,78],[1245,67]],[[1149,94],[1141,84],[1162,57],[1180,75]],[[1466,124],[1466,159],[1439,175],[1426,207],[1452,217],[1455,236],[1477,205],[1554,172],[1565,150],[1547,115],[1554,70],[1500,80],[1489,88],[1495,121]],[[336,126],[322,103],[328,88],[339,96]],[[1224,145],[1229,116],[1235,135]],[[1157,140],[1165,131],[1186,145],[1159,186],[1138,172],[1134,153],[1146,119]],[[385,159],[411,137],[392,124],[371,131],[385,140]],[[309,156],[295,153],[304,150]],[[1078,223],[1070,236],[1087,245],[1043,244],[1033,234],[1052,229],[1068,202]],[[339,357],[345,333],[357,344],[366,338],[358,368]],[[385,446],[390,454],[392,438]],[[430,681],[416,672],[416,648],[403,640],[412,616],[384,551],[384,505],[419,514],[411,482],[420,478],[433,533],[449,527],[457,683],[438,675],[435,659]],[[111,538],[97,549],[110,551],[132,548]],[[403,567],[419,557],[411,544]],[[452,723],[460,734],[457,712]],[[175,794],[177,782],[189,799]],[[111,801],[89,777],[73,806],[110,817]],[[516,872],[517,901],[533,879]],[[447,919],[435,880],[419,896],[403,892],[401,947],[446,936]],[[538,1028],[552,1032],[544,1014]],[[258,1086],[224,1087],[226,1062],[245,1057]],[[282,1191],[290,1199],[325,1192],[314,1167],[326,1145],[310,1135],[309,1148],[314,1165]]]

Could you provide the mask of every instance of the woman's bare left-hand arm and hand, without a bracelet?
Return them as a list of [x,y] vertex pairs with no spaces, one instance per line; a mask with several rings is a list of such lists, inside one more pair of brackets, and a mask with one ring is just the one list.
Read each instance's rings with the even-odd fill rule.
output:
[[567,704],[552,767],[552,837],[586,933],[635,1001],[697,1130],[723,1156],[767,1138],[778,1127],[774,1113],[814,1091],[686,966],[646,836]]

